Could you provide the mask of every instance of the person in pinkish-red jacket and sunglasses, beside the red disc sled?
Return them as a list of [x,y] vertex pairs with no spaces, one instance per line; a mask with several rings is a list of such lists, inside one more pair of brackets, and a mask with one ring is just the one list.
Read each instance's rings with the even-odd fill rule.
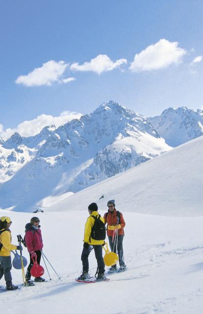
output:
[[[37,263],[40,264],[42,255],[41,251],[43,248],[43,241],[39,223],[40,220],[38,217],[32,217],[30,223],[27,223],[25,225],[25,243],[30,256],[30,262],[25,275],[25,279],[28,285],[33,284],[30,273],[31,267],[33,266],[32,259],[37,259]],[[45,279],[42,277],[36,277],[34,281],[43,282],[45,281]]]

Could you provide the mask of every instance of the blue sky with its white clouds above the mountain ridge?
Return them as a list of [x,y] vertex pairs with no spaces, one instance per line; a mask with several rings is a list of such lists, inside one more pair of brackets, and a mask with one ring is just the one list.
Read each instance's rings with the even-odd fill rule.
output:
[[202,0],[1,1],[0,132],[108,100],[203,108],[202,16]]

